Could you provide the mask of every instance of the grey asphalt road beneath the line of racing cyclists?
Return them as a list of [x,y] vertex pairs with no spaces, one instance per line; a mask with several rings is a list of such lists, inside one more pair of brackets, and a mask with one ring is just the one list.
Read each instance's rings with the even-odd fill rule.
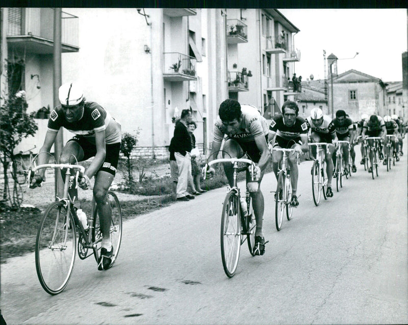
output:
[[407,155],[374,180],[358,164],[318,207],[311,165],[299,166],[300,205],[279,232],[276,180],[264,177],[269,243],[262,257],[242,245],[233,278],[220,256],[223,188],[126,221],[115,266],[100,272],[93,257],[77,257],[57,296],[41,288],[34,253],[10,259],[2,314],[8,324],[407,323]]

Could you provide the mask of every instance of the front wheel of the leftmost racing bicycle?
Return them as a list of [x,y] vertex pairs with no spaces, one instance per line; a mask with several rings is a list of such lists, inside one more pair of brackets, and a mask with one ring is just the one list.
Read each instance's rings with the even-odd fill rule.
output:
[[75,226],[62,201],[50,204],[38,228],[35,266],[41,286],[49,294],[60,293],[71,277],[77,251]]

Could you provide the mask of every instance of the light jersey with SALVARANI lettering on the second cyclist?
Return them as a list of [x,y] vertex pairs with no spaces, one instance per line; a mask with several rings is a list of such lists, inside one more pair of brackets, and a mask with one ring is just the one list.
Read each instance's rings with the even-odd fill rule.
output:
[[252,105],[241,105],[241,119],[239,130],[236,134],[228,134],[222,125],[221,119],[214,123],[213,141],[222,142],[224,134],[240,142],[251,142],[258,137],[268,135],[268,124],[259,110]]

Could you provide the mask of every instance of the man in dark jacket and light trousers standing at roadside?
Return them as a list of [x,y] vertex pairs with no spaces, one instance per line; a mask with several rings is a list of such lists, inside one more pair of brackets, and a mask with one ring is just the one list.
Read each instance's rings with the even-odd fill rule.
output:
[[174,150],[174,157],[179,169],[179,178],[176,186],[177,201],[194,199],[194,195],[187,192],[188,178],[189,174],[191,174],[191,137],[187,131],[187,126],[191,119],[191,111],[183,109],[181,119],[176,122],[174,128],[172,150]]

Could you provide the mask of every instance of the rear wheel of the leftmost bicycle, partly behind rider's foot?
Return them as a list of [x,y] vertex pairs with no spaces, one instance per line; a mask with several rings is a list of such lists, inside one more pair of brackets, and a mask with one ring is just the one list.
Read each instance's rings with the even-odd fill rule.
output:
[[[112,209],[110,228],[110,237],[113,246],[113,258],[111,263],[112,267],[118,256],[120,243],[122,241],[122,210],[120,208],[119,199],[117,198],[115,193],[108,192],[108,201]],[[93,251],[96,262],[98,262],[99,259],[98,251],[100,250],[101,247],[102,233],[100,230],[99,216],[97,212],[95,213],[94,224],[95,226],[92,229],[92,242],[100,240],[96,244],[96,249],[94,249]]]

